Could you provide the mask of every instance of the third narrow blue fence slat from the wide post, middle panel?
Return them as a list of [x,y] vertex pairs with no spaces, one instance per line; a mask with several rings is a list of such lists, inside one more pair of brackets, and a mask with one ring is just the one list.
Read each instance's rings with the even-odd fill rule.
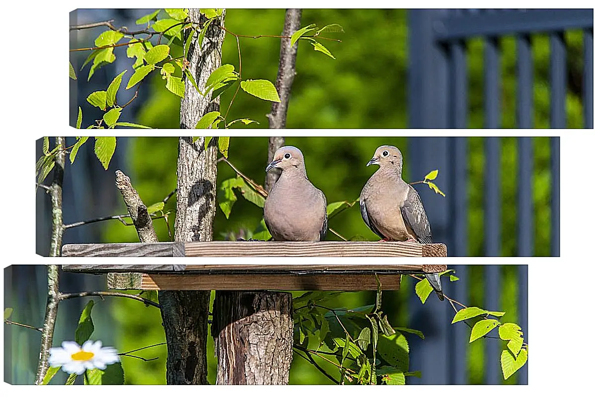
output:
[[517,237],[516,254],[533,256],[533,138],[519,137],[517,179]]

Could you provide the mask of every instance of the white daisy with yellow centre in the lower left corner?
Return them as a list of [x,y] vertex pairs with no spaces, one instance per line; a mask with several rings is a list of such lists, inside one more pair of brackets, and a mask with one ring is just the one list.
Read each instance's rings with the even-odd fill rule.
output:
[[105,370],[108,364],[120,361],[117,350],[112,347],[101,347],[101,341],[86,341],[83,346],[76,342],[64,341],[60,348],[49,349],[49,366],[62,367],[62,370],[82,375],[85,370],[99,368]]

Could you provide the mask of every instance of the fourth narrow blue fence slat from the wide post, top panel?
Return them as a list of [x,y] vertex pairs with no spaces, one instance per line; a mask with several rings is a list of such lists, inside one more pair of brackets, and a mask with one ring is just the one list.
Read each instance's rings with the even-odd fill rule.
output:
[[566,128],[566,44],[564,32],[550,33],[550,127]]

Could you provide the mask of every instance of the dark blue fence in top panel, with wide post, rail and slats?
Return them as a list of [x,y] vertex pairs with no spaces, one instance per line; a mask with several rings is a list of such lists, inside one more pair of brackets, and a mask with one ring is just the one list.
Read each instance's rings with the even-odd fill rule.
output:
[[583,30],[583,119],[593,128],[593,10],[409,11],[408,124],[465,128],[468,119],[466,42],[484,39],[484,128],[499,128],[500,39],[516,41],[516,127],[533,127],[531,35],[550,40],[550,127],[566,127],[566,30]]

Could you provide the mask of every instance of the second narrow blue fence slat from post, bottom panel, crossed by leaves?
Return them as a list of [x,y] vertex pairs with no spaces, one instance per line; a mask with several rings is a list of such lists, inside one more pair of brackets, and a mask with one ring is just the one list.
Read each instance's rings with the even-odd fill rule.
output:
[[[500,310],[500,265],[491,264],[484,266],[484,302],[486,310]],[[502,383],[502,369],[500,368],[500,354],[502,348],[499,341],[486,339],[485,374],[486,385],[499,385]]]

